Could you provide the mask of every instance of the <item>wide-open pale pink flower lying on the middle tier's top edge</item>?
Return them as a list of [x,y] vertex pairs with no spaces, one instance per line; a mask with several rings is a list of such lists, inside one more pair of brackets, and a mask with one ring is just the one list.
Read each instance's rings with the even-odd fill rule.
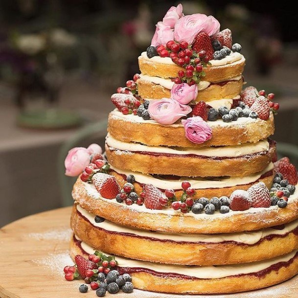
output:
[[172,98],[150,100],[148,112],[151,118],[160,124],[173,124],[178,119],[191,112],[189,106],[185,106]]

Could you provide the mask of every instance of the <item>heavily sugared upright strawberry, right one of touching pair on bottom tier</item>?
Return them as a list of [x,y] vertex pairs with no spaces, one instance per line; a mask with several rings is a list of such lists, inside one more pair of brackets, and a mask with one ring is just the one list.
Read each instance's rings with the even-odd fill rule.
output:
[[270,207],[270,193],[264,182],[259,182],[252,185],[247,192],[249,193],[252,200],[252,207]]

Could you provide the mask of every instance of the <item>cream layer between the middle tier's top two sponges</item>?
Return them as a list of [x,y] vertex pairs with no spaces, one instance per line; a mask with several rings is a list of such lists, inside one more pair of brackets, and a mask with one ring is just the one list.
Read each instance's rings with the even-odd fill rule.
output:
[[138,143],[122,142],[113,138],[110,134],[106,137],[106,143],[111,149],[128,152],[154,152],[166,154],[187,155],[194,154],[205,157],[241,157],[244,155],[268,151],[270,144],[268,140],[260,140],[257,143],[243,143],[236,146],[205,147],[205,148],[170,148],[162,146],[147,146]]

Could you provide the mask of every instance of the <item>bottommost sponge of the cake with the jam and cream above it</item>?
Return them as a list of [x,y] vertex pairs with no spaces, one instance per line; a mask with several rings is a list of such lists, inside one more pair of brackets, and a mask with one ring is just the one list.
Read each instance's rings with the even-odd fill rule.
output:
[[[75,235],[72,237],[72,258],[94,251]],[[119,273],[132,275],[135,288],[173,294],[245,292],[275,285],[298,274],[298,250],[264,261],[222,266],[168,265],[118,256],[116,260]]]

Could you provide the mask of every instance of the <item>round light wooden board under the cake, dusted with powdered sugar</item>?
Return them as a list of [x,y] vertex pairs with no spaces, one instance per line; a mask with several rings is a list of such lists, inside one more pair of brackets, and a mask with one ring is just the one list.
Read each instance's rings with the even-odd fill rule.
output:
[[[71,207],[31,215],[0,229],[1,298],[96,297],[94,291],[81,294],[82,280],[66,281],[63,268],[69,257]],[[229,295],[193,295],[194,298],[297,298],[298,276],[270,288]],[[115,296],[127,298],[185,298],[134,290]]]

